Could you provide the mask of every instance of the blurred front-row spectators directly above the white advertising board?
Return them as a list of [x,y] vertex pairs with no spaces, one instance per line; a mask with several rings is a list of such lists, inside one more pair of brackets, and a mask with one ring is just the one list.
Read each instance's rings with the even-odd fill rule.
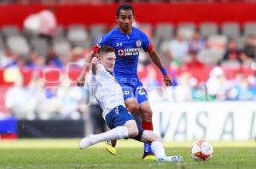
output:
[[256,100],[256,74],[245,76],[238,73],[229,80],[224,70],[216,66],[206,82],[199,82],[189,72],[183,72],[177,76],[176,86],[162,87],[161,82],[154,78],[155,70],[149,69],[143,84],[148,88],[148,98],[152,102]]

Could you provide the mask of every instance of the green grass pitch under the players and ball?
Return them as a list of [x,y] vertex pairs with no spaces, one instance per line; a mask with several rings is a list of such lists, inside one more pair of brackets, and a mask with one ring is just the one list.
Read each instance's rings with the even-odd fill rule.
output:
[[0,168],[256,168],[256,142],[212,143],[210,161],[194,161],[189,153],[192,143],[164,143],[166,155],[183,155],[183,163],[142,161],[143,144],[120,140],[117,155],[110,155],[104,144],[78,149],[79,139],[0,140]]

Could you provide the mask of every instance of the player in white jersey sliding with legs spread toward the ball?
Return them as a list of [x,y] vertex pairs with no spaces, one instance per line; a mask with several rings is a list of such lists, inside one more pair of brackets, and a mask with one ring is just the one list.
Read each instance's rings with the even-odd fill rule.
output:
[[103,45],[98,56],[91,61],[88,80],[90,91],[102,107],[102,116],[111,130],[83,138],[79,148],[85,149],[106,140],[134,138],[142,142],[152,142],[152,151],[159,162],[183,161],[179,155],[166,156],[160,138],[154,132],[137,126],[133,115],[125,109],[122,88],[112,75],[115,59],[114,48]]

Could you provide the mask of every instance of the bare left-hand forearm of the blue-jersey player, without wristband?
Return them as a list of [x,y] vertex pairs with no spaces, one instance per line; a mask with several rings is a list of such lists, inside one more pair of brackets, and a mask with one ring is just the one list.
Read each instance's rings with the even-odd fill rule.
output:
[[91,59],[95,56],[96,54],[91,51],[89,54],[86,55],[85,61],[84,61],[84,66],[82,68],[82,71],[77,79],[77,86],[78,87],[84,87],[84,82],[85,82],[85,74],[86,72],[90,69],[90,61]]

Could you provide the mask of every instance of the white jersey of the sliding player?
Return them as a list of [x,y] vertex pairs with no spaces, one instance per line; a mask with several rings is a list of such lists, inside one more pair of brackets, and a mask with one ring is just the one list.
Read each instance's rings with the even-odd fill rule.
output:
[[104,119],[116,106],[123,105],[125,107],[122,87],[102,64],[98,64],[96,75],[90,71],[88,79],[90,92],[96,96],[103,110]]

